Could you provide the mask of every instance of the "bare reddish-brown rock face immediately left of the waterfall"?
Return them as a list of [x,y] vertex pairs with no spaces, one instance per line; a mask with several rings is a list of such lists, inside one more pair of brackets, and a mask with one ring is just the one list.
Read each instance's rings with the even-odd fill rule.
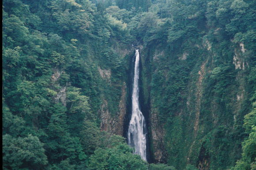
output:
[[101,115],[101,130],[108,131],[111,134],[123,135],[124,131],[124,116],[126,115],[126,84],[123,84],[122,95],[119,101],[119,112],[116,116],[112,116],[109,113],[108,102],[103,100],[101,109],[99,110]]

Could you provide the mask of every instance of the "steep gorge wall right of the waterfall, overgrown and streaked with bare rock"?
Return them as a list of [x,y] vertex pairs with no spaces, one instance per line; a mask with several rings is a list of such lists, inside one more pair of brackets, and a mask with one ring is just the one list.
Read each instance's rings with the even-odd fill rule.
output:
[[209,170],[233,166],[240,158],[251,95],[250,61],[243,45],[231,45],[234,57],[220,63],[208,40],[191,51],[169,53],[161,46],[141,50],[153,162]]

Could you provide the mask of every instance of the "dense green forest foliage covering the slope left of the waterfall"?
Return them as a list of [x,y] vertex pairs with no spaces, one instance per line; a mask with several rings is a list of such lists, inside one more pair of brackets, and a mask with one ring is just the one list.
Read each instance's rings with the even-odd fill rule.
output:
[[[126,169],[129,159],[145,169],[123,138],[99,129],[104,94],[117,112],[125,67],[109,43],[128,36],[125,25],[88,0],[3,6],[4,169],[87,169],[100,151],[110,162],[123,152],[123,162],[110,167]],[[112,86],[97,67],[113,72]]]

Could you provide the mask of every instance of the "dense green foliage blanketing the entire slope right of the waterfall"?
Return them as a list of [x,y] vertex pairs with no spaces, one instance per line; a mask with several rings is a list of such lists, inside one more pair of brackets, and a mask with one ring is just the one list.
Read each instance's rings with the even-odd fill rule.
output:
[[[158,0],[141,17],[135,34],[145,46],[144,95],[165,130],[163,144],[152,146],[165,148],[159,161],[223,170],[235,166],[246,142],[255,150],[243,127],[255,91],[254,11],[251,0]],[[253,152],[236,167],[253,169]]]

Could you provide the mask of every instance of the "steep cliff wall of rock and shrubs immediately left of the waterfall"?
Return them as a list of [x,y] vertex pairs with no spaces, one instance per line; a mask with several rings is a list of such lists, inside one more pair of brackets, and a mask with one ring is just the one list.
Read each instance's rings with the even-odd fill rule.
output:
[[[98,110],[99,117],[101,119],[100,128],[101,130],[108,131],[110,134],[118,134],[120,136],[125,136],[125,127],[128,122],[129,114],[129,96],[130,96],[130,72],[131,72],[131,60],[134,55],[134,49],[131,47],[113,47],[113,50],[117,52],[120,59],[126,63],[125,69],[126,75],[122,75],[119,80],[112,82],[113,76],[110,70],[101,69],[98,67],[98,73],[102,79],[102,104]],[[114,89],[116,91],[114,91]],[[111,101],[111,96],[116,93],[117,100],[114,101],[114,109],[110,109],[109,106]]]

